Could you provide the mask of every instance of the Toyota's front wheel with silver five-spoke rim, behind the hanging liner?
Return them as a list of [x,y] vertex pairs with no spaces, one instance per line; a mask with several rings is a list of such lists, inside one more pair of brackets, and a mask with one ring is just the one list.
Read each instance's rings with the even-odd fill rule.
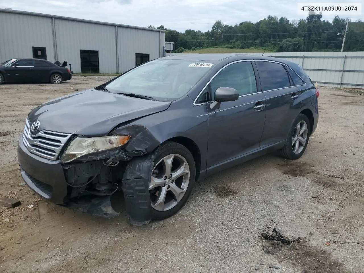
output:
[[185,146],[175,142],[161,144],[149,184],[153,219],[165,219],[179,211],[191,194],[195,177],[195,161]]

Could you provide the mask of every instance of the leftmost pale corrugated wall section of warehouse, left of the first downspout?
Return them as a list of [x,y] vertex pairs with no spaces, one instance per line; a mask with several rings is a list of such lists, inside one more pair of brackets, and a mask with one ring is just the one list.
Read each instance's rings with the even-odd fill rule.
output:
[[52,19],[0,12],[0,62],[12,58],[32,58],[32,47],[45,47],[54,60]]

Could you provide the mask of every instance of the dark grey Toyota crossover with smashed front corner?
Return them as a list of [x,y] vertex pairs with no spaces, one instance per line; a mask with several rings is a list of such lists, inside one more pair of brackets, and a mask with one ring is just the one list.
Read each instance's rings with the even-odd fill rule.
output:
[[156,59],[32,110],[19,140],[21,175],[56,204],[111,217],[110,197],[122,190],[131,223],[164,219],[208,175],[271,151],[300,158],[317,127],[318,95],[302,68],[282,59]]

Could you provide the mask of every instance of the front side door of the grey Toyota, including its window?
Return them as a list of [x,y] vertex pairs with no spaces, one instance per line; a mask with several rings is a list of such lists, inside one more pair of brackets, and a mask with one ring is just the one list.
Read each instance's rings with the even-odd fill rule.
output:
[[250,61],[229,64],[210,82],[212,97],[219,87],[238,90],[239,98],[222,102],[208,114],[207,169],[260,150],[265,121],[265,96],[257,87]]

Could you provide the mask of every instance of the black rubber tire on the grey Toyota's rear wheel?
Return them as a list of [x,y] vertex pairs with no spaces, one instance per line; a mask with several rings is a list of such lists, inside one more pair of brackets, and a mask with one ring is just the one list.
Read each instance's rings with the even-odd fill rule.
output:
[[[299,123],[301,123],[302,121],[305,122],[306,126],[307,126],[306,142],[305,142],[305,145],[303,146],[303,149],[300,151],[300,153],[294,153],[292,141],[293,141],[293,137],[295,135],[296,126]],[[307,147],[308,141],[309,141],[309,137],[310,137],[310,121],[309,121],[309,119],[307,118],[306,115],[299,114],[296,117],[296,119],[294,119],[294,122],[292,124],[292,127],[289,130],[289,133],[288,133],[288,136],[287,136],[287,139],[286,139],[286,143],[284,144],[283,149],[281,149],[279,151],[280,155],[282,157],[284,157],[286,159],[290,159],[290,160],[296,160],[296,159],[300,158],[304,154],[304,152],[306,150],[306,147]]]

